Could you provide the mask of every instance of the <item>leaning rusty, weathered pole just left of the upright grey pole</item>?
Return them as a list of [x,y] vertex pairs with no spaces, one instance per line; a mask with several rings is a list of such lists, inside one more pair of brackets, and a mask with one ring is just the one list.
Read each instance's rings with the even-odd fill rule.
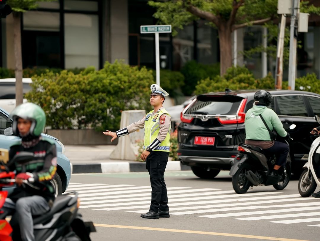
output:
[[277,66],[276,66],[276,86],[278,90],[282,89],[282,76],[283,76],[283,50],[284,50],[284,32],[285,32],[285,17],[281,15],[278,49],[277,49]]

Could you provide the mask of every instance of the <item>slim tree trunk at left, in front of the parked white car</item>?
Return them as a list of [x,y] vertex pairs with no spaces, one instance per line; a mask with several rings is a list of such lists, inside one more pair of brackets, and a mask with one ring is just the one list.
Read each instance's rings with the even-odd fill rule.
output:
[[21,51],[21,13],[13,12],[13,44],[16,77],[16,106],[22,104],[23,88],[22,88],[22,51]]

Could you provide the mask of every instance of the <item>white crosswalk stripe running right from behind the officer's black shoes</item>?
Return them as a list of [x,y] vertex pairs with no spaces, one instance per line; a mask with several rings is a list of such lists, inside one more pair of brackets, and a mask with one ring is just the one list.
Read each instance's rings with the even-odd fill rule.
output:
[[[202,209],[202,208],[219,208],[219,207],[231,207],[231,206],[245,206],[245,205],[253,205],[253,204],[265,204],[265,203],[274,203],[274,202],[291,202],[291,201],[302,201],[302,200],[314,200],[313,197],[301,197],[301,198],[287,198],[287,199],[275,199],[275,200],[267,200],[267,201],[257,201],[257,202],[242,202],[242,203],[226,203],[226,204],[214,204],[214,205],[203,205],[203,206],[191,206],[191,207],[178,207],[172,208],[170,207],[170,214],[180,214],[181,212],[171,212],[177,210],[190,210],[190,209]],[[126,211],[126,212],[136,212],[136,213],[145,213],[149,210],[137,210],[137,211]],[[196,210],[192,211],[193,213],[203,213],[210,212],[208,209],[205,210]],[[192,213],[190,213],[192,214]]]

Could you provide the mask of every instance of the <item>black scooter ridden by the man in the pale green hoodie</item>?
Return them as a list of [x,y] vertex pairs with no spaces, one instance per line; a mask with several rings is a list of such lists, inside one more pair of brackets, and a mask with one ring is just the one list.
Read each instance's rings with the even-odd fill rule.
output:
[[[284,140],[287,144],[287,140]],[[246,193],[250,186],[273,185],[276,190],[284,189],[291,176],[291,159],[288,154],[286,164],[279,169],[280,181],[271,173],[276,163],[275,155],[268,155],[261,148],[240,143],[229,172],[232,176],[232,186],[236,193]]]

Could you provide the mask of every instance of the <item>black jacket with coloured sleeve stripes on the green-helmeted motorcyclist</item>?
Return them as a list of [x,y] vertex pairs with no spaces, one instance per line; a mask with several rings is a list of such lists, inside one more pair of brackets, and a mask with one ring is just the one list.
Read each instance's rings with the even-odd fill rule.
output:
[[[21,151],[33,152],[34,159],[25,164],[11,162],[10,160]],[[21,141],[14,143],[10,147],[8,167],[10,171],[16,170],[16,174],[30,172],[35,180],[31,183],[34,187],[27,184],[17,186],[8,196],[13,202],[21,197],[33,195],[43,196],[47,201],[54,200],[54,188],[50,180],[57,170],[57,151],[53,140],[41,137],[41,140],[30,148],[24,148]]]

